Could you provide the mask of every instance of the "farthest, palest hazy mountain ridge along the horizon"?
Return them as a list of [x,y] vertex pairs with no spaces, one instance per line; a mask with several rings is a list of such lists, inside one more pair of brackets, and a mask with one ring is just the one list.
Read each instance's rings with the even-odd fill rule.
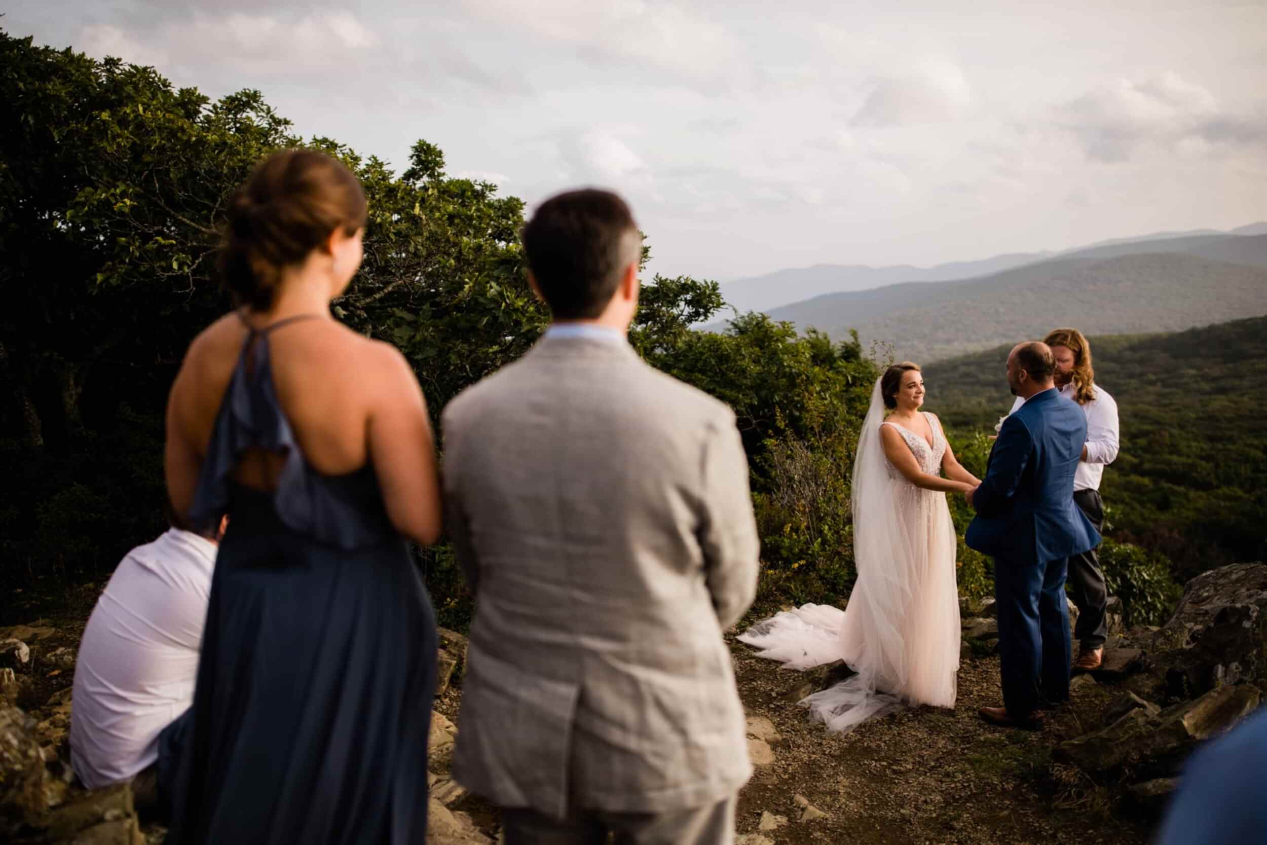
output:
[[869,267],[865,265],[820,264],[812,267],[793,267],[777,270],[761,276],[739,279],[722,284],[721,293],[726,302],[740,313],[750,310],[769,312],[773,308],[791,305],[822,294],[869,290],[903,281],[950,281],[973,279],[1028,264],[1035,264],[1053,257],[1067,257],[1090,250],[1104,250],[1123,245],[1148,243],[1192,237],[1267,234],[1267,223],[1252,223],[1229,232],[1218,229],[1195,229],[1191,232],[1159,232],[1134,238],[1115,238],[1063,252],[1015,252],[1000,255],[982,261],[953,261],[933,267],[896,265],[889,267]]

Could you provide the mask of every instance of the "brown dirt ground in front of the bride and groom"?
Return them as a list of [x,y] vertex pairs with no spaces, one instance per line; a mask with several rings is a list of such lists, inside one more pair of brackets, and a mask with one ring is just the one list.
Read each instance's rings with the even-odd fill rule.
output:
[[[1098,722],[1106,689],[1079,685],[1041,731],[993,727],[977,708],[998,706],[998,658],[963,661],[954,709],[920,707],[829,734],[786,699],[799,673],[755,656],[729,637],[749,716],[769,718],[782,739],[774,763],[740,794],[739,832],[761,816],[787,825],[763,832],[778,845],[1143,845],[1149,823],[1110,815],[1107,793],[1052,765],[1054,746]],[[1088,679],[1090,680],[1090,679]],[[799,821],[794,797],[827,813]]]

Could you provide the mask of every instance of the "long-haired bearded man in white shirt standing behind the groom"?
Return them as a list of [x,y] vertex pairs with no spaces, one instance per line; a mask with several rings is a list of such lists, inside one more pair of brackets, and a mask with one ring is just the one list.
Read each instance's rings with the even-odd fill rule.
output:
[[[1053,329],[1044,342],[1055,356],[1055,386],[1060,395],[1082,407],[1087,416],[1087,442],[1082,446],[1082,462],[1073,479],[1073,502],[1091,519],[1096,531],[1104,528],[1104,499],[1100,498],[1100,480],[1105,466],[1117,459],[1121,429],[1117,423],[1117,403],[1104,388],[1095,383],[1091,366],[1091,345],[1076,328]],[[1017,399],[1012,412],[1024,404]],[[1100,569],[1100,550],[1069,557],[1069,589],[1078,608],[1078,623],[1073,637],[1078,641],[1076,669],[1098,669],[1104,660],[1104,646],[1109,639],[1109,589]]]

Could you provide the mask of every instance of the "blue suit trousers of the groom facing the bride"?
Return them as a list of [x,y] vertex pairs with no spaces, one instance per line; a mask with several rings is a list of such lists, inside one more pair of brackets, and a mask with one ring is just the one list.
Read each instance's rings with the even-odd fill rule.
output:
[[1069,697],[1069,606],[1066,559],[1044,564],[995,559],[1003,707],[1016,721]]

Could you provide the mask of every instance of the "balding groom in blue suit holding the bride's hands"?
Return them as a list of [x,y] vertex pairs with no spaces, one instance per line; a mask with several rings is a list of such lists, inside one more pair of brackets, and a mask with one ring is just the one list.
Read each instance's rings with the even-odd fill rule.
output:
[[1068,699],[1067,559],[1100,545],[1073,503],[1086,414],[1055,390],[1054,372],[1045,343],[1007,356],[1007,384],[1025,404],[1003,421],[984,480],[964,494],[977,511],[965,541],[995,559],[1002,658],[1003,707],[981,716],[1009,727],[1039,727],[1036,709]]

